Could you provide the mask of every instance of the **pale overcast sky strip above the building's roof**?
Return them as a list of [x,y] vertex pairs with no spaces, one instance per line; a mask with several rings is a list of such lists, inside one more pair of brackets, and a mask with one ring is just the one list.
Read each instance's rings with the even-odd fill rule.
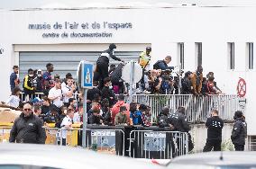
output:
[[0,8],[76,8],[101,6],[101,4],[120,5],[165,5],[165,4],[197,4],[197,5],[256,5],[256,0],[0,0]]

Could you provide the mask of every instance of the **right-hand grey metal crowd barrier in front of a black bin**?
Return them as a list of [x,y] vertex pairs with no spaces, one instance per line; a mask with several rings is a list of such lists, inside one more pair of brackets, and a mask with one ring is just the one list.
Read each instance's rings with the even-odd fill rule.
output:
[[187,153],[187,133],[153,130],[133,130],[130,133],[130,157],[171,159]]

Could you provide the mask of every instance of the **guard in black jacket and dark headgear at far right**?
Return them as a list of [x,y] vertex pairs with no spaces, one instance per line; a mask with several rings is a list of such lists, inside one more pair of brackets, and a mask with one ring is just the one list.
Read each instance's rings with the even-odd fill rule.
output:
[[235,111],[234,124],[231,139],[235,151],[244,151],[245,138],[247,136],[247,124],[243,118],[242,111]]

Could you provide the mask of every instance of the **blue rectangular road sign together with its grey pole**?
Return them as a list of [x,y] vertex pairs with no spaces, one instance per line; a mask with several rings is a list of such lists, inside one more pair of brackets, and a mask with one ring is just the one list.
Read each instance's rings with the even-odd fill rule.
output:
[[80,67],[82,67],[81,72],[81,87],[84,88],[84,99],[83,99],[83,138],[82,138],[82,146],[86,147],[86,129],[87,129],[87,89],[93,87],[93,71],[94,65],[87,61],[82,61],[80,63]]

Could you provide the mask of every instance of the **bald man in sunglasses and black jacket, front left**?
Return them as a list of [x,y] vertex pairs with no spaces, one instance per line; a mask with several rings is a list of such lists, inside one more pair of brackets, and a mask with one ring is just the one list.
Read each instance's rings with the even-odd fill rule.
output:
[[42,128],[42,121],[32,113],[32,105],[25,103],[20,117],[14,121],[10,133],[11,143],[33,143],[44,144],[46,139],[45,130]]

